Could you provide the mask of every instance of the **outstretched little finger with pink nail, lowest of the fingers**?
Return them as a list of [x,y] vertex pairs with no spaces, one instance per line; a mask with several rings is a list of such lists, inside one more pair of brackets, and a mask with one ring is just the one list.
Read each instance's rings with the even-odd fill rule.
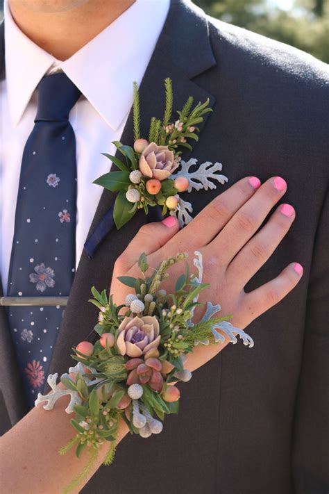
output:
[[244,308],[251,321],[275,306],[292,291],[303,275],[303,267],[299,263],[291,263],[280,272],[278,277],[256,288],[244,296]]

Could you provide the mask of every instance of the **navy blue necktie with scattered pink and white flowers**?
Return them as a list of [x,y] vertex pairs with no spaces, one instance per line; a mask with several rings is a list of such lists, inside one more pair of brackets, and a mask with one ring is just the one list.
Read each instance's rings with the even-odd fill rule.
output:
[[[81,92],[63,73],[38,85],[24,147],[8,296],[68,296],[76,265],[76,140],[69,112]],[[28,409],[42,392],[62,308],[11,307],[9,324]]]

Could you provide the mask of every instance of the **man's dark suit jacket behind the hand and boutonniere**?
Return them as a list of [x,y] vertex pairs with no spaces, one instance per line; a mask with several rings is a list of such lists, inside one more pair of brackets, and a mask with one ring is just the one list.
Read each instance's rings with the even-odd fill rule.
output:
[[[3,49],[1,37],[4,77]],[[328,494],[328,66],[171,0],[141,85],[144,135],[149,117],[162,113],[158,88],[166,76],[174,82],[174,108],[192,94],[196,101],[210,97],[214,109],[185,159],[220,160],[228,186],[246,175],[262,181],[281,175],[289,185],[285,201],[296,208],[296,222],[246,289],[294,260],[304,276],[248,328],[253,349],[229,345],[196,371],[183,386],[180,414],[165,419],[162,434],[126,437],[115,463],[101,467],[82,492]],[[133,141],[131,117],[124,142]],[[223,190],[192,197],[195,213]],[[103,193],[93,224],[114,199]],[[90,286],[110,286],[115,259],[144,221],[135,216],[108,235],[92,260],[81,257],[50,372],[65,372],[70,348],[90,334],[96,318],[87,304]],[[3,431],[26,413],[6,318],[0,311]]]

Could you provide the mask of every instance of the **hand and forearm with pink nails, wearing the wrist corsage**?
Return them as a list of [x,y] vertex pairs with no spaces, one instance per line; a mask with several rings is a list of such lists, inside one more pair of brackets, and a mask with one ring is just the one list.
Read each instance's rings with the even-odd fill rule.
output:
[[[208,204],[181,231],[178,231],[177,222],[172,227],[166,227],[162,222],[144,225],[115,263],[110,290],[115,301],[121,303],[131,290],[119,283],[117,277],[139,274],[137,260],[142,252],[149,256],[149,265],[153,267],[178,252],[189,252],[192,259],[197,249],[203,254],[204,281],[212,283],[211,290],[203,292],[201,302],[220,302],[223,314],[233,314],[235,326],[244,329],[280,302],[302,276],[301,272],[296,271],[295,263],[291,263],[275,279],[251,293],[244,293],[248,280],[271,256],[294,222],[294,211],[287,216],[279,206],[267,224],[255,233],[285,194],[286,187],[278,190],[274,184],[272,178],[255,190],[248,178],[242,179]],[[176,279],[180,269],[179,265],[171,268],[171,279]],[[169,283],[168,289],[172,288]],[[267,331],[266,328],[263,330]],[[196,370],[227,344],[228,340],[223,344],[196,347],[189,354],[185,368]],[[193,380],[187,386],[193,386]],[[67,443],[73,435],[69,424],[72,415],[64,411],[67,402],[67,397],[62,397],[51,413],[44,411],[40,404],[0,438],[3,492],[56,494],[81,472],[88,459],[86,451],[80,460],[76,459],[74,450],[65,456],[58,455],[58,447]],[[124,438],[126,433],[127,427],[122,422],[119,439]],[[101,446],[90,476],[101,466],[108,444]],[[52,468],[49,468],[50,465]],[[78,493],[90,476],[74,492]]]

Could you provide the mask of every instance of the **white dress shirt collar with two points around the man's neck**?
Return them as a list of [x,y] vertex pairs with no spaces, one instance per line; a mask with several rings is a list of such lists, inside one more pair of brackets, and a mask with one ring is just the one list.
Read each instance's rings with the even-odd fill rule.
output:
[[170,0],[135,1],[71,58],[59,62],[22,33],[5,1],[6,79],[12,124],[19,123],[44,74],[59,65],[106,123],[117,130],[133,104],[133,81],[138,85],[142,81],[169,4]]

